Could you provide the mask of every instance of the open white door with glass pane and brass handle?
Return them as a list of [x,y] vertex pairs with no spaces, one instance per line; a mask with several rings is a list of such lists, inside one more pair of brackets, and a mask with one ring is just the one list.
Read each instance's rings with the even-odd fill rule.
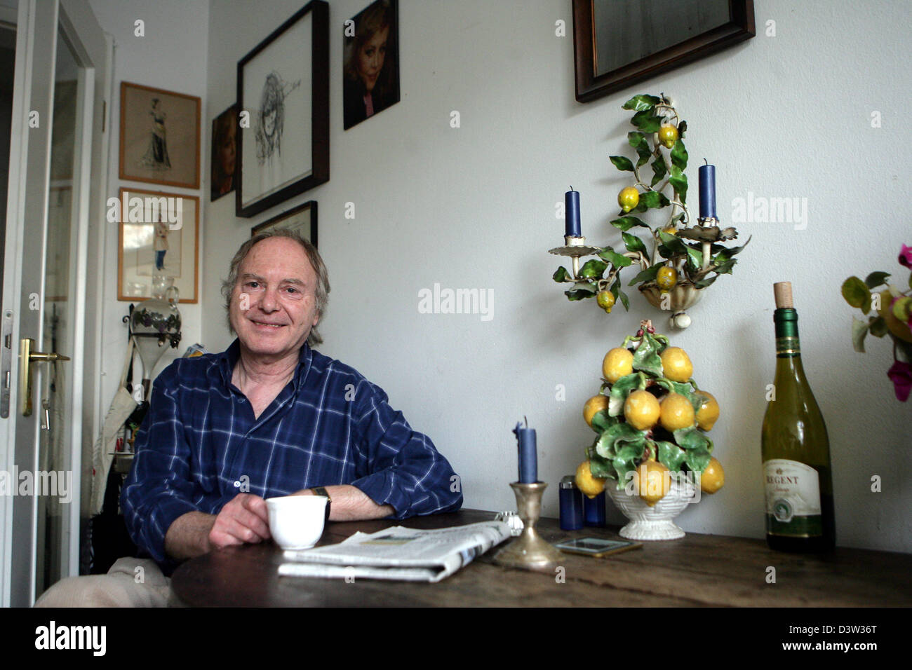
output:
[[0,560],[3,604],[30,606],[78,574],[83,423],[91,424],[86,409],[96,401],[98,296],[87,287],[96,285],[103,240],[109,49],[88,0],[16,5],[0,313]]

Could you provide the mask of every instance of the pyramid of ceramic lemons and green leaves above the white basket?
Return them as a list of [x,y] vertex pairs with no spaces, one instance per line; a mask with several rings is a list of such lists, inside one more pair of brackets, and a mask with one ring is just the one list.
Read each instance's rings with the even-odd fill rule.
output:
[[668,495],[675,472],[691,473],[700,490],[715,493],[725,474],[707,433],[719,403],[697,386],[687,352],[649,321],[640,326],[608,351],[601,391],[583,408],[597,437],[576,469],[576,485],[593,498],[609,480],[616,490],[632,482],[633,494],[652,507]]

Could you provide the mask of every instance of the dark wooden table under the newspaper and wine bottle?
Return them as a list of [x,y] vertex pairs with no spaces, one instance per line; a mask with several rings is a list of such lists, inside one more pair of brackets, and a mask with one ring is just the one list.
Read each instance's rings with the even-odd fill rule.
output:
[[[356,531],[394,525],[441,528],[489,521],[494,512],[460,510],[404,521],[330,522],[320,544]],[[547,541],[595,535],[618,539],[617,528],[561,531],[543,519]],[[504,546],[503,544],[500,546]],[[841,607],[910,605],[912,554],[837,548],[828,555],[772,551],[762,540],[688,533],[681,540],[644,542],[643,549],[593,559],[564,554],[561,570],[533,572],[495,564],[495,547],[442,582],[279,577],[282,551],[273,543],[212,551],[173,574],[175,604],[189,606],[713,606]],[[775,583],[768,582],[769,568]]]

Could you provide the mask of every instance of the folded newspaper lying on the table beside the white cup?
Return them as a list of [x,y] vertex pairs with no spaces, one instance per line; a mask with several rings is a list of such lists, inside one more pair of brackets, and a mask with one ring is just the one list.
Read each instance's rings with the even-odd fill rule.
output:
[[357,532],[346,541],[305,551],[285,551],[279,574],[440,582],[476,556],[510,537],[503,521],[419,531],[395,526]]

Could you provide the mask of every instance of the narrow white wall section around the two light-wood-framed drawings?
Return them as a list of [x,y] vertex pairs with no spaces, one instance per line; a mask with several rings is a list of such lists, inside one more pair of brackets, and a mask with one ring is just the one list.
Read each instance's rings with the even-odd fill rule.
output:
[[[108,195],[117,197],[119,189],[131,188],[145,191],[166,191],[179,195],[195,195],[200,198],[201,210],[204,206],[202,190],[180,189],[161,186],[143,181],[119,180],[119,119],[120,119],[120,82],[130,81],[164,88],[178,93],[186,93],[202,98],[201,118],[205,126],[207,115],[206,91],[206,37],[208,36],[207,0],[156,0],[155,3],[143,0],[90,0],[98,23],[102,29],[114,37],[114,90],[109,99],[109,123],[111,136]],[[145,23],[145,36],[134,35],[134,22],[142,19]],[[202,149],[205,145],[201,141]],[[202,166],[206,163],[201,162]],[[200,277],[203,276],[205,256],[202,253],[202,215],[200,217]],[[117,299],[118,268],[118,229],[111,223],[105,229],[106,267],[108,281],[105,284],[104,309],[102,316],[102,385],[103,407],[101,416],[108,411],[108,403],[114,397],[120,370],[123,367],[127,351],[127,325],[121,319],[128,314],[129,302]],[[197,290],[199,294],[199,289]],[[187,345],[202,338],[201,314],[202,303],[181,304],[182,339],[177,349],[169,348],[155,367],[155,373],[177,356],[181,356]],[[136,367],[137,374],[140,366]]]

